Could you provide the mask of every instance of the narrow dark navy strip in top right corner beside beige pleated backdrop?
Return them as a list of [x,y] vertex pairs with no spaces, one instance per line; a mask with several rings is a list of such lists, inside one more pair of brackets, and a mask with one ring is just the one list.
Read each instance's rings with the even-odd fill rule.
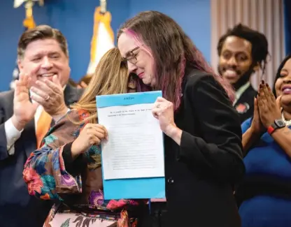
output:
[[291,1],[284,0],[285,54],[291,54]]

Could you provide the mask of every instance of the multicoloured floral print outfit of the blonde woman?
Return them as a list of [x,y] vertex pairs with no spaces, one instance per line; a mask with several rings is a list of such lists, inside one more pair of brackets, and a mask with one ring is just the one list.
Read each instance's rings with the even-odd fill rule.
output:
[[31,153],[23,171],[29,194],[56,201],[44,227],[136,227],[137,219],[128,210],[144,200],[104,200],[101,167],[92,168],[94,156],[101,154],[99,146],[71,163],[64,161],[65,152],[70,159],[71,143],[87,124],[73,122],[88,116],[83,110],[68,112],[48,131],[42,147]]

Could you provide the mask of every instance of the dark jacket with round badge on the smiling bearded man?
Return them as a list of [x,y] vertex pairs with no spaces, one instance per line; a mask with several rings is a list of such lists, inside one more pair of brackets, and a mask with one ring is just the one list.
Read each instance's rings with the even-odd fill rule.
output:
[[254,98],[257,96],[257,91],[250,85],[246,91],[241,94],[239,100],[234,104],[234,108],[239,113],[241,123],[246,119],[253,117],[254,114]]

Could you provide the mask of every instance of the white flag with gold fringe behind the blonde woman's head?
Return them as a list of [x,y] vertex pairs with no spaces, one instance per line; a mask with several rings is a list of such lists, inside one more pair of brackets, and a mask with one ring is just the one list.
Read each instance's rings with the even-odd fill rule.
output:
[[[102,7],[102,6],[101,6]],[[114,34],[111,28],[111,13],[97,7],[94,13],[94,29],[91,41],[90,64],[87,74],[92,74],[101,57],[114,47]]]

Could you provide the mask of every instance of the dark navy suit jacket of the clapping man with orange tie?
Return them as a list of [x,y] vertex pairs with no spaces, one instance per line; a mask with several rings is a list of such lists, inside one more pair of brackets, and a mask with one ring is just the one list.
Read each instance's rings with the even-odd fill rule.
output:
[[[82,93],[82,89],[66,85],[66,105],[76,103]],[[29,196],[22,178],[24,163],[36,149],[34,119],[15,142],[15,154],[8,156],[4,123],[13,115],[13,96],[13,90],[0,93],[0,226],[41,227],[53,203]]]

